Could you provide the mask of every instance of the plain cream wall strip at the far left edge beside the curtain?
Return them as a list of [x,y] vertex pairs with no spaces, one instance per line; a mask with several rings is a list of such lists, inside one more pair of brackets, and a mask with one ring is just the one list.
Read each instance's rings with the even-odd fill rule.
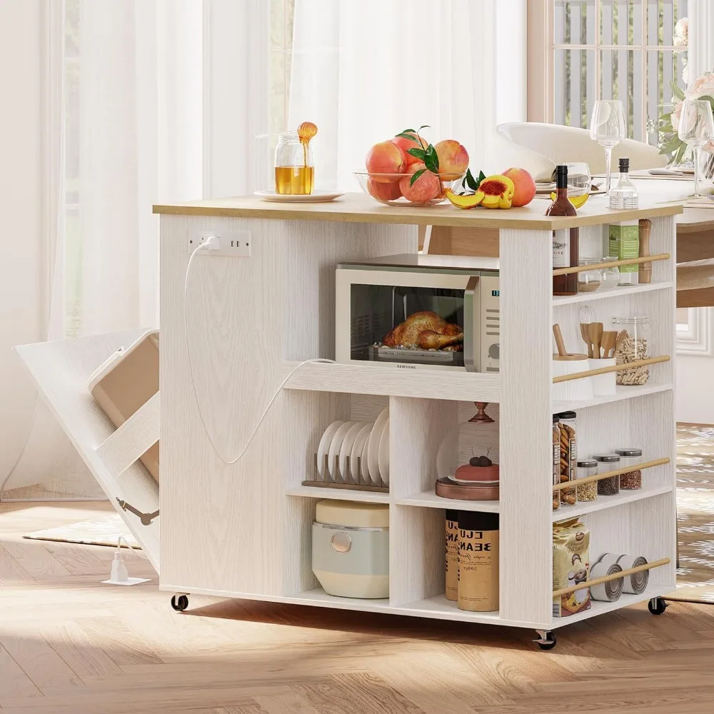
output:
[[11,347],[41,339],[42,0],[0,3],[0,480],[29,428],[34,389]]

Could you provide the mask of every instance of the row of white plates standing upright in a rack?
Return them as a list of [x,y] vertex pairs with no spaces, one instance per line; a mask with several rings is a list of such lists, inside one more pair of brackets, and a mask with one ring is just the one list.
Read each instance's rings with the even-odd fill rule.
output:
[[373,423],[333,421],[317,448],[318,480],[353,486],[389,485],[389,409]]

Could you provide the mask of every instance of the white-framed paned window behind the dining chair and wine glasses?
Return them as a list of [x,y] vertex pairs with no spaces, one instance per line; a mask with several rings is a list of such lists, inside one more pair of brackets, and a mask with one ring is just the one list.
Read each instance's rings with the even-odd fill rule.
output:
[[658,144],[657,121],[683,86],[688,0],[549,0],[548,121],[587,128],[596,99],[620,99],[628,136]]

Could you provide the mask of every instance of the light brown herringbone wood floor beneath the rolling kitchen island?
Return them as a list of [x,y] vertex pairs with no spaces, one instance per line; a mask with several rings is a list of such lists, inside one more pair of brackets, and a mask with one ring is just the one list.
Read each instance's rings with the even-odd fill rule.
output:
[[[714,712],[714,606],[530,630],[100,585],[111,548],[23,540],[103,505],[0,506],[0,713]],[[132,575],[145,560],[128,555]]]

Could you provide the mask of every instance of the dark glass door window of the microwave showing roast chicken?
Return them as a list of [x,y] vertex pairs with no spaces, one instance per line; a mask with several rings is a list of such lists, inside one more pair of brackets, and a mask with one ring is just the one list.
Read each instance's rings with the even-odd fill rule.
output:
[[463,366],[463,290],[351,286],[351,357]]

